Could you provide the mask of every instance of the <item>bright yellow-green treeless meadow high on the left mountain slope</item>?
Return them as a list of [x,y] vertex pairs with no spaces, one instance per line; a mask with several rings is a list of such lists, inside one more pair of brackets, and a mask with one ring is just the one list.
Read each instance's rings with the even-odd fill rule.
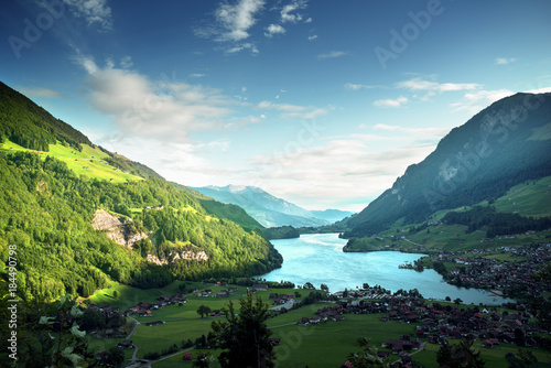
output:
[[121,172],[119,169],[109,165],[106,161],[104,161],[108,158],[107,153],[102,152],[98,148],[93,148],[87,144],[83,144],[82,152],[61,143],[50,144],[48,152],[41,152],[25,149],[11,142],[10,140],[6,140],[4,143],[0,144],[0,150],[9,152],[34,152],[39,153],[43,158],[53,156],[65,162],[67,166],[75,172],[75,174],[84,175],[90,178],[105,180],[114,183],[125,183],[130,180],[143,180],[140,176]]

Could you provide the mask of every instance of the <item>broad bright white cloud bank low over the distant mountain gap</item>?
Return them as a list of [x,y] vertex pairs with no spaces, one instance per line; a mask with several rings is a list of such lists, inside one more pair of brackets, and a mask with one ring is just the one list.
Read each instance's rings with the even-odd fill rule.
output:
[[279,154],[255,156],[251,165],[260,185],[271,186],[272,194],[298,204],[312,203],[313,198],[331,198],[331,206],[336,202],[365,203],[389,188],[410,164],[422,161],[435,147],[411,138],[402,142],[377,152],[369,140],[359,137],[333,139],[287,153],[283,149]]

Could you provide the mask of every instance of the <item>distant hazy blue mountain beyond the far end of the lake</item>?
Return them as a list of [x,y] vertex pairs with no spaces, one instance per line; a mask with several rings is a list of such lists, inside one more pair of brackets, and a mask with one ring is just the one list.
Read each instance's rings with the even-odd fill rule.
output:
[[352,215],[352,213],[338,209],[307,210],[255,186],[205,186],[193,187],[193,190],[216,201],[238,205],[266,227],[289,225],[316,227]]

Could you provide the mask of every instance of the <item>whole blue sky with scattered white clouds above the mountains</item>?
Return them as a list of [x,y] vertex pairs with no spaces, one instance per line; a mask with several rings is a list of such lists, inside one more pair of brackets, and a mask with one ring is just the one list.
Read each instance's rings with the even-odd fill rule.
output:
[[551,87],[549,1],[20,0],[0,80],[190,186],[360,210],[493,101]]

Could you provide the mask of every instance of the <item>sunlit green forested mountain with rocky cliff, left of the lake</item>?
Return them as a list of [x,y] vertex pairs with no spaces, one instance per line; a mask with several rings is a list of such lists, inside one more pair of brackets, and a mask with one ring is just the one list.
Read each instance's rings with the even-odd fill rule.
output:
[[282,257],[257,226],[0,84],[0,268],[17,255],[22,300],[266,273]]

